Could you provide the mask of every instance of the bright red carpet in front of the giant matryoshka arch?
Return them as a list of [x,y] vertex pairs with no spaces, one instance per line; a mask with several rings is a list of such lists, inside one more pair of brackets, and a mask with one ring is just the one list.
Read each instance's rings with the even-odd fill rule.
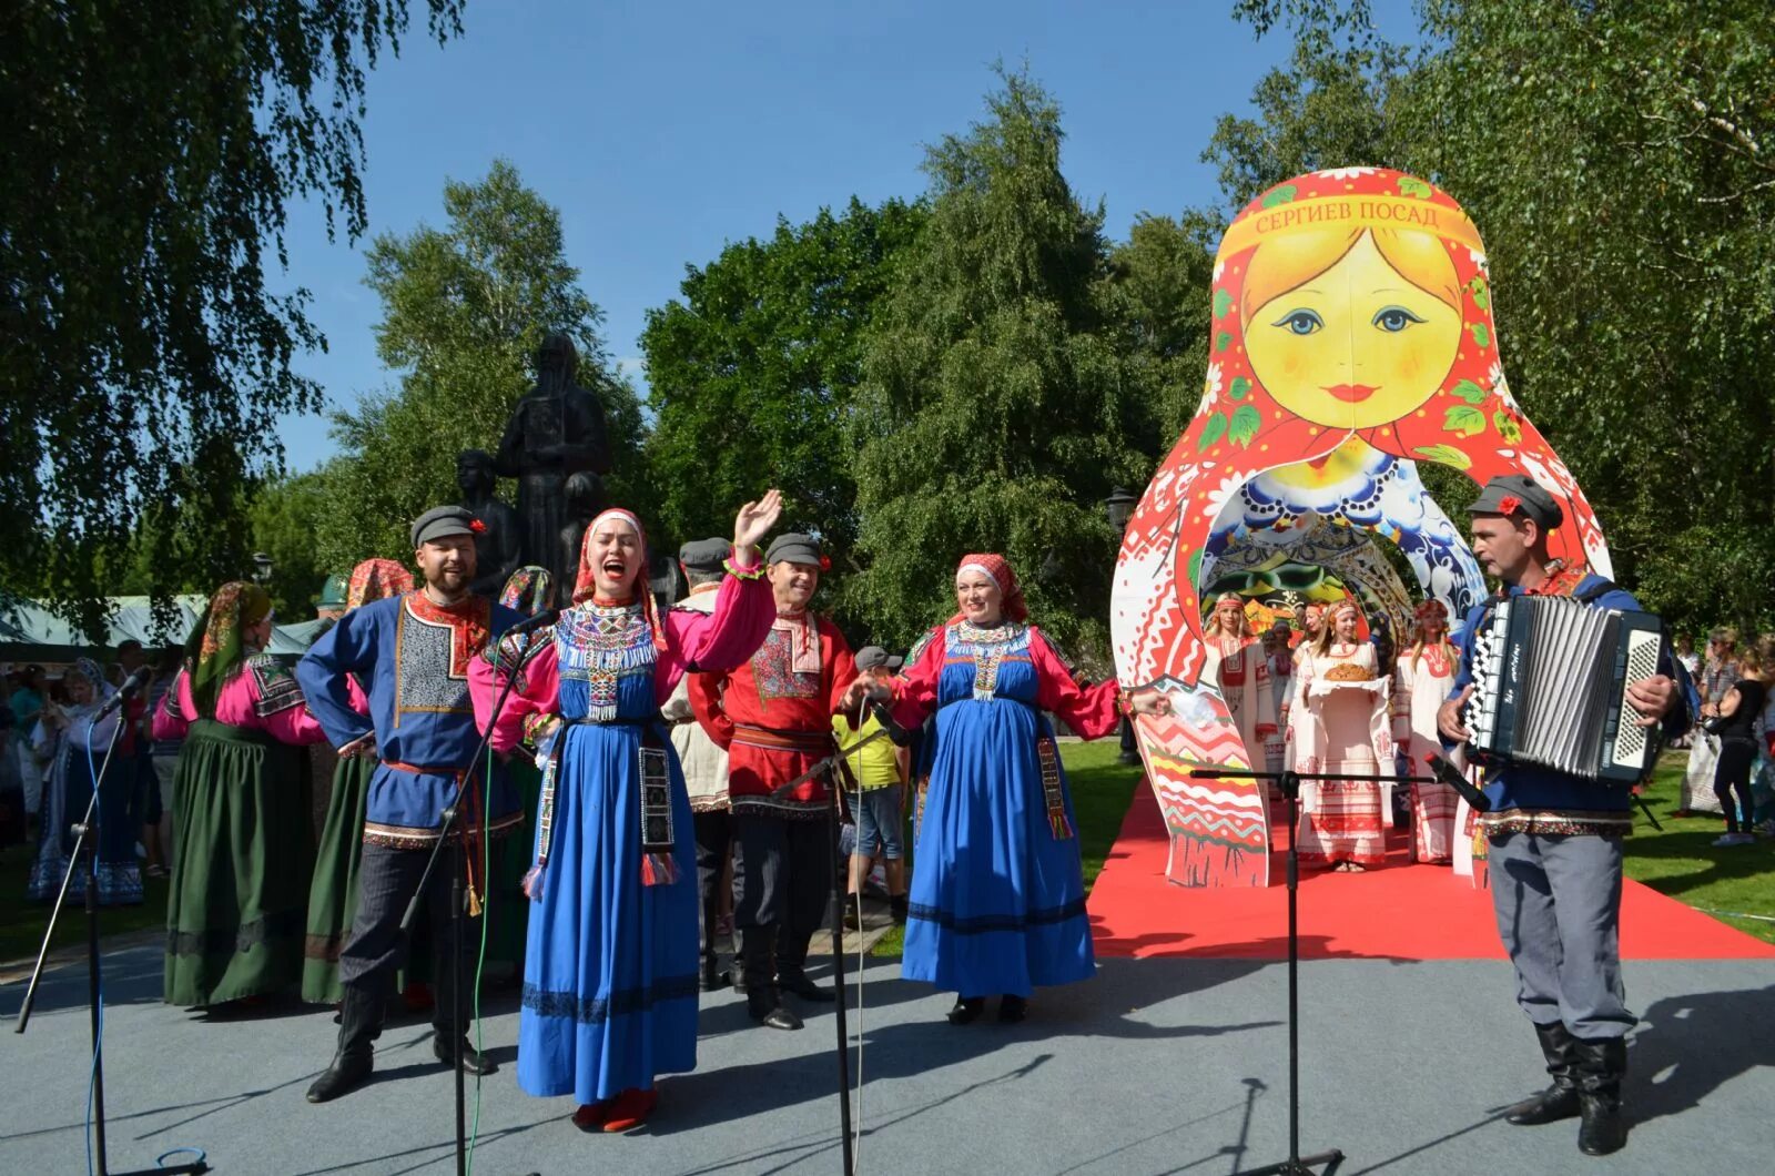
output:
[[[1164,822],[1140,787],[1088,910],[1099,956],[1287,957],[1287,865],[1267,888],[1207,890],[1164,879]],[[1274,844],[1285,844],[1280,837]],[[1503,959],[1491,894],[1448,867],[1411,865],[1402,830],[1388,865],[1363,874],[1301,870],[1303,959]],[[1775,945],[1629,881],[1621,910],[1626,959],[1775,959]]]

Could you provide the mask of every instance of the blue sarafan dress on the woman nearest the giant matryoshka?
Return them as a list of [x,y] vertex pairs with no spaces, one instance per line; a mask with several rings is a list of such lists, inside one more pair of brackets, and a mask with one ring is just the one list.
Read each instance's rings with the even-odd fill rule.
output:
[[[1031,629],[1001,645],[944,636],[930,787],[918,830],[902,975],[962,997],[1028,997],[1095,970],[1076,837],[1056,837],[1042,787]],[[978,657],[996,673],[978,675]],[[990,696],[976,695],[976,684]],[[1076,830],[1065,767],[1054,759]]]

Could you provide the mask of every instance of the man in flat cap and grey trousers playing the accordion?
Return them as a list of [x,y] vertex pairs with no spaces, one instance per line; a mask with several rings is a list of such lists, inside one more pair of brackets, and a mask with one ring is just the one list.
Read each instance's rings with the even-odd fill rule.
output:
[[[1466,648],[1454,693],[1438,714],[1443,741],[1468,739],[1466,702],[1473,663],[1495,650],[1487,620],[1498,599],[1560,595],[1601,609],[1638,602],[1582,563],[1550,558],[1548,533],[1566,515],[1532,478],[1503,474],[1468,508],[1473,556],[1503,581],[1498,597],[1466,618]],[[1667,735],[1688,730],[1693,687],[1668,650],[1658,673],[1628,686],[1642,727],[1663,723]],[[1635,1025],[1621,984],[1621,838],[1633,826],[1628,789],[1610,789],[1550,767],[1503,764],[1486,775],[1491,812],[1480,817],[1489,840],[1487,869],[1498,933],[1516,965],[1518,1002],[1535,1027],[1553,1085],[1505,1116],[1532,1126],[1580,1117],[1578,1148],[1617,1151],[1628,1137],[1621,1116],[1626,1034]]]

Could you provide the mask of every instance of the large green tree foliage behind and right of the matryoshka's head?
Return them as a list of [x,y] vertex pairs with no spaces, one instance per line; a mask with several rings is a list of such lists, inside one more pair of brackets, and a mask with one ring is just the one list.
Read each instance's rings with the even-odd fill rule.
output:
[[1511,387],[1617,579],[1681,627],[1775,625],[1768,5],[1432,0],[1411,55],[1363,4],[1235,7],[1296,53],[1216,131],[1228,204],[1331,163],[1441,183],[1486,236]]

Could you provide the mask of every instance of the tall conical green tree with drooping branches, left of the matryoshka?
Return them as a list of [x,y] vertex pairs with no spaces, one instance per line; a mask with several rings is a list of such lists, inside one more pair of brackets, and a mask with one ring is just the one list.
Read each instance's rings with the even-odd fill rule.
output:
[[877,311],[854,425],[868,568],[845,600],[903,645],[953,606],[953,561],[998,551],[1090,652],[1116,542],[1100,499],[1150,473],[1152,405],[1109,316],[1102,210],[1060,172],[1060,108],[1001,80],[987,121],[927,151],[930,219]]

